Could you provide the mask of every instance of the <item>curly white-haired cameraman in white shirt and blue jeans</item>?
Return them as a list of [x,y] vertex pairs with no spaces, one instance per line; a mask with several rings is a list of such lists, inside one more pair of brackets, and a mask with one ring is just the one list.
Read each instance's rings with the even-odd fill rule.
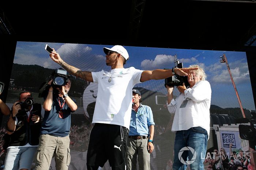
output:
[[[185,85],[178,86],[179,96],[174,100],[173,88],[166,85],[168,92],[168,110],[175,113],[172,125],[172,131],[176,131],[174,142],[174,163],[173,169],[179,169],[183,163],[178,158],[179,151],[183,147],[191,147],[198,155],[190,169],[203,170],[204,159],[199,155],[206,154],[207,140],[210,133],[210,105],[211,105],[211,86],[205,80],[206,74],[198,65],[198,70],[191,70],[188,74],[189,88]],[[188,155],[182,155],[184,161],[192,159],[191,151]],[[187,165],[184,165],[187,166]]]

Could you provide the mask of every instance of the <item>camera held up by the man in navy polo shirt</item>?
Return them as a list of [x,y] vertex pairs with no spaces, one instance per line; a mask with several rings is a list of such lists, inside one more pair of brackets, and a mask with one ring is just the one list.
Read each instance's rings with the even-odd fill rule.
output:
[[[59,94],[59,91],[56,88],[61,88],[61,86],[67,84],[69,77],[70,74],[68,74],[66,70],[56,69],[55,72],[53,72],[52,75],[48,78],[48,80],[43,82],[39,87],[38,97],[46,97],[50,86],[53,87],[53,93]],[[48,84],[50,80],[52,80],[51,85]]]

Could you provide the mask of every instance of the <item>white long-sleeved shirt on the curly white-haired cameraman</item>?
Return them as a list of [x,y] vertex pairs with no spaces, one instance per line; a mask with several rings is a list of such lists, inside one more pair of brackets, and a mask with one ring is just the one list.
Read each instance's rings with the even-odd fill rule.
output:
[[[182,102],[188,100],[184,108]],[[210,135],[211,85],[208,81],[198,81],[192,88],[172,99],[168,106],[170,113],[175,113],[172,131],[188,130],[200,126]]]

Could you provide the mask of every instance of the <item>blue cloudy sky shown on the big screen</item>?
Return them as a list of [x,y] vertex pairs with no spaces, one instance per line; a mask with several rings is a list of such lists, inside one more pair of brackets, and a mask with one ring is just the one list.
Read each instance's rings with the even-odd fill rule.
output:
[[[111,48],[113,45],[47,44],[54,48],[65,62],[81,70],[97,72],[111,69],[106,66],[103,47]],[[39,65],[50,69],[59,68],[60,66],[53,62],[49,53],[45,51],[45,45],[46,43],[39,42],[17,42],[14,63]],[[124,47],[129,53],[125,68],[133,66],[140,70],[171,69],[174,66],[174,54],[177,54],[178,61],[182,62],[184,67],[200,65],[206,72],[206,80],[211,84],[211,104],[222,108],[239,107],[227,65],[220,62],[219,57],[225,54],[243,108],[255,110],[245,52]],[[164,80],[151,80],[137,84],[135,87],[166,94],[164,83]],[[178,95],[177,90],[176,95]]]

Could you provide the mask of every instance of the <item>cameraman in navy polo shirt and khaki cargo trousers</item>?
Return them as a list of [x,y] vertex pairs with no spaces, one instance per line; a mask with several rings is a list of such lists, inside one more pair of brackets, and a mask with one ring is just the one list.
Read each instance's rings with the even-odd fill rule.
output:
[[76,111],[77,105],[68,96],[71,87],[69,79],[63,86],[54,88],[52,81],[48,82],[50,88],[43,106],[45,114],[34,158],[36,170],[49,169],[53,154],[57,170],[68,169],[70,162],[70,114]]

